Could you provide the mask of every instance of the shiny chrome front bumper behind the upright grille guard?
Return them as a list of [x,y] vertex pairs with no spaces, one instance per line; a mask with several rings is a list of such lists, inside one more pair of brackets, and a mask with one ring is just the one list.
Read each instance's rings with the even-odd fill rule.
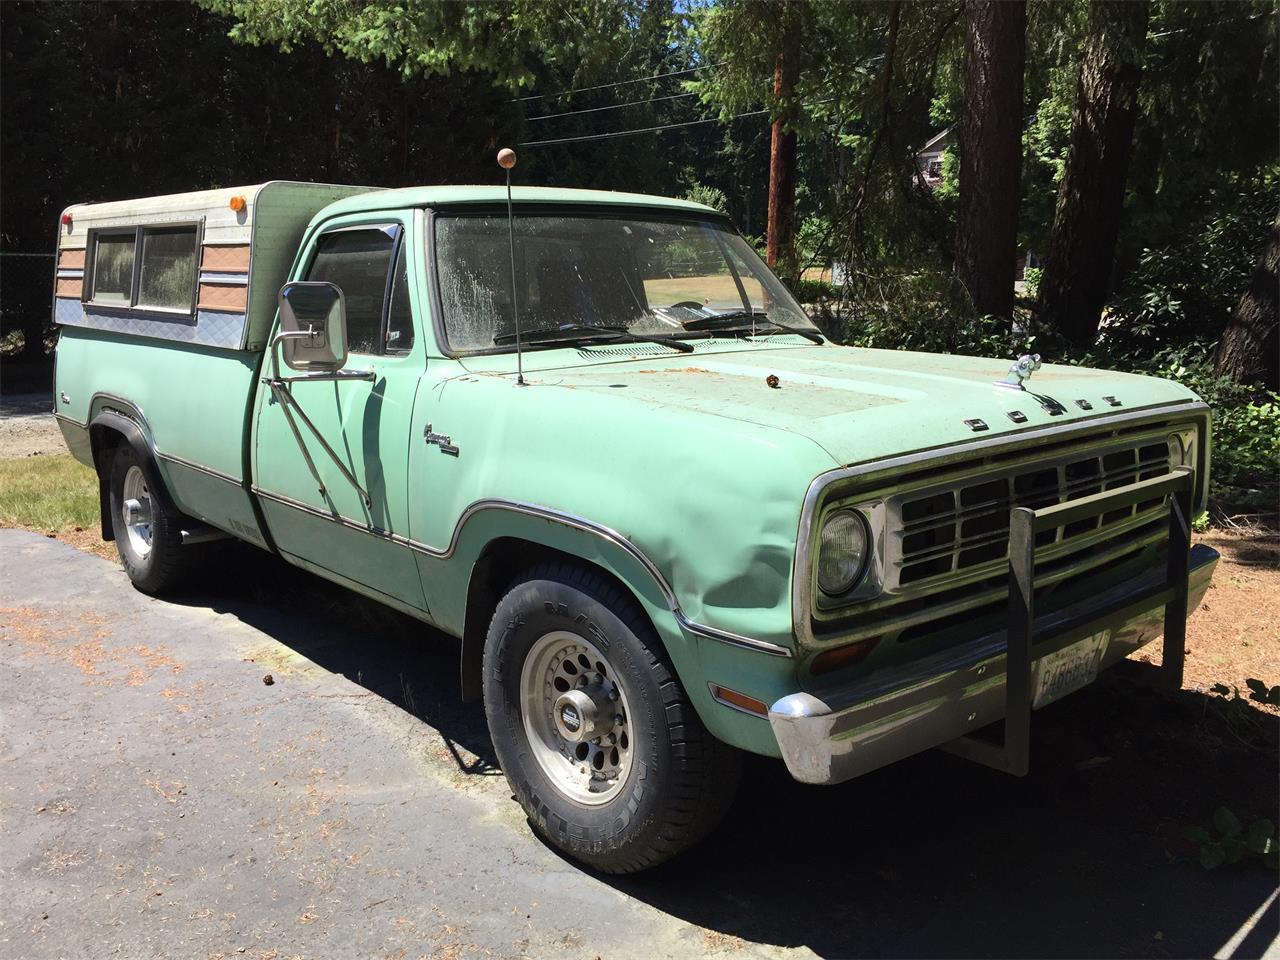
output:
[[[1204,596],[1216,550],[1196,545],[1188,570],[1188,611]],[[1152,599],[1164,582],[1153,570],[1088,600],[1036,620],[1051,635],[1039,658],[1076,639],[1111,631],[1105,669],[1160,636],[1165,604]],[[1111,611],[1100,617],[1098,611]],[[1005,632],[900,668],[879,671],[820,695],[783,696],[769,708],[769,724],[791,776],[803,783],[840,783],[904,756],[942,746],[1005,716]],[[1041,659],[1032,662],[1032,676]]]

